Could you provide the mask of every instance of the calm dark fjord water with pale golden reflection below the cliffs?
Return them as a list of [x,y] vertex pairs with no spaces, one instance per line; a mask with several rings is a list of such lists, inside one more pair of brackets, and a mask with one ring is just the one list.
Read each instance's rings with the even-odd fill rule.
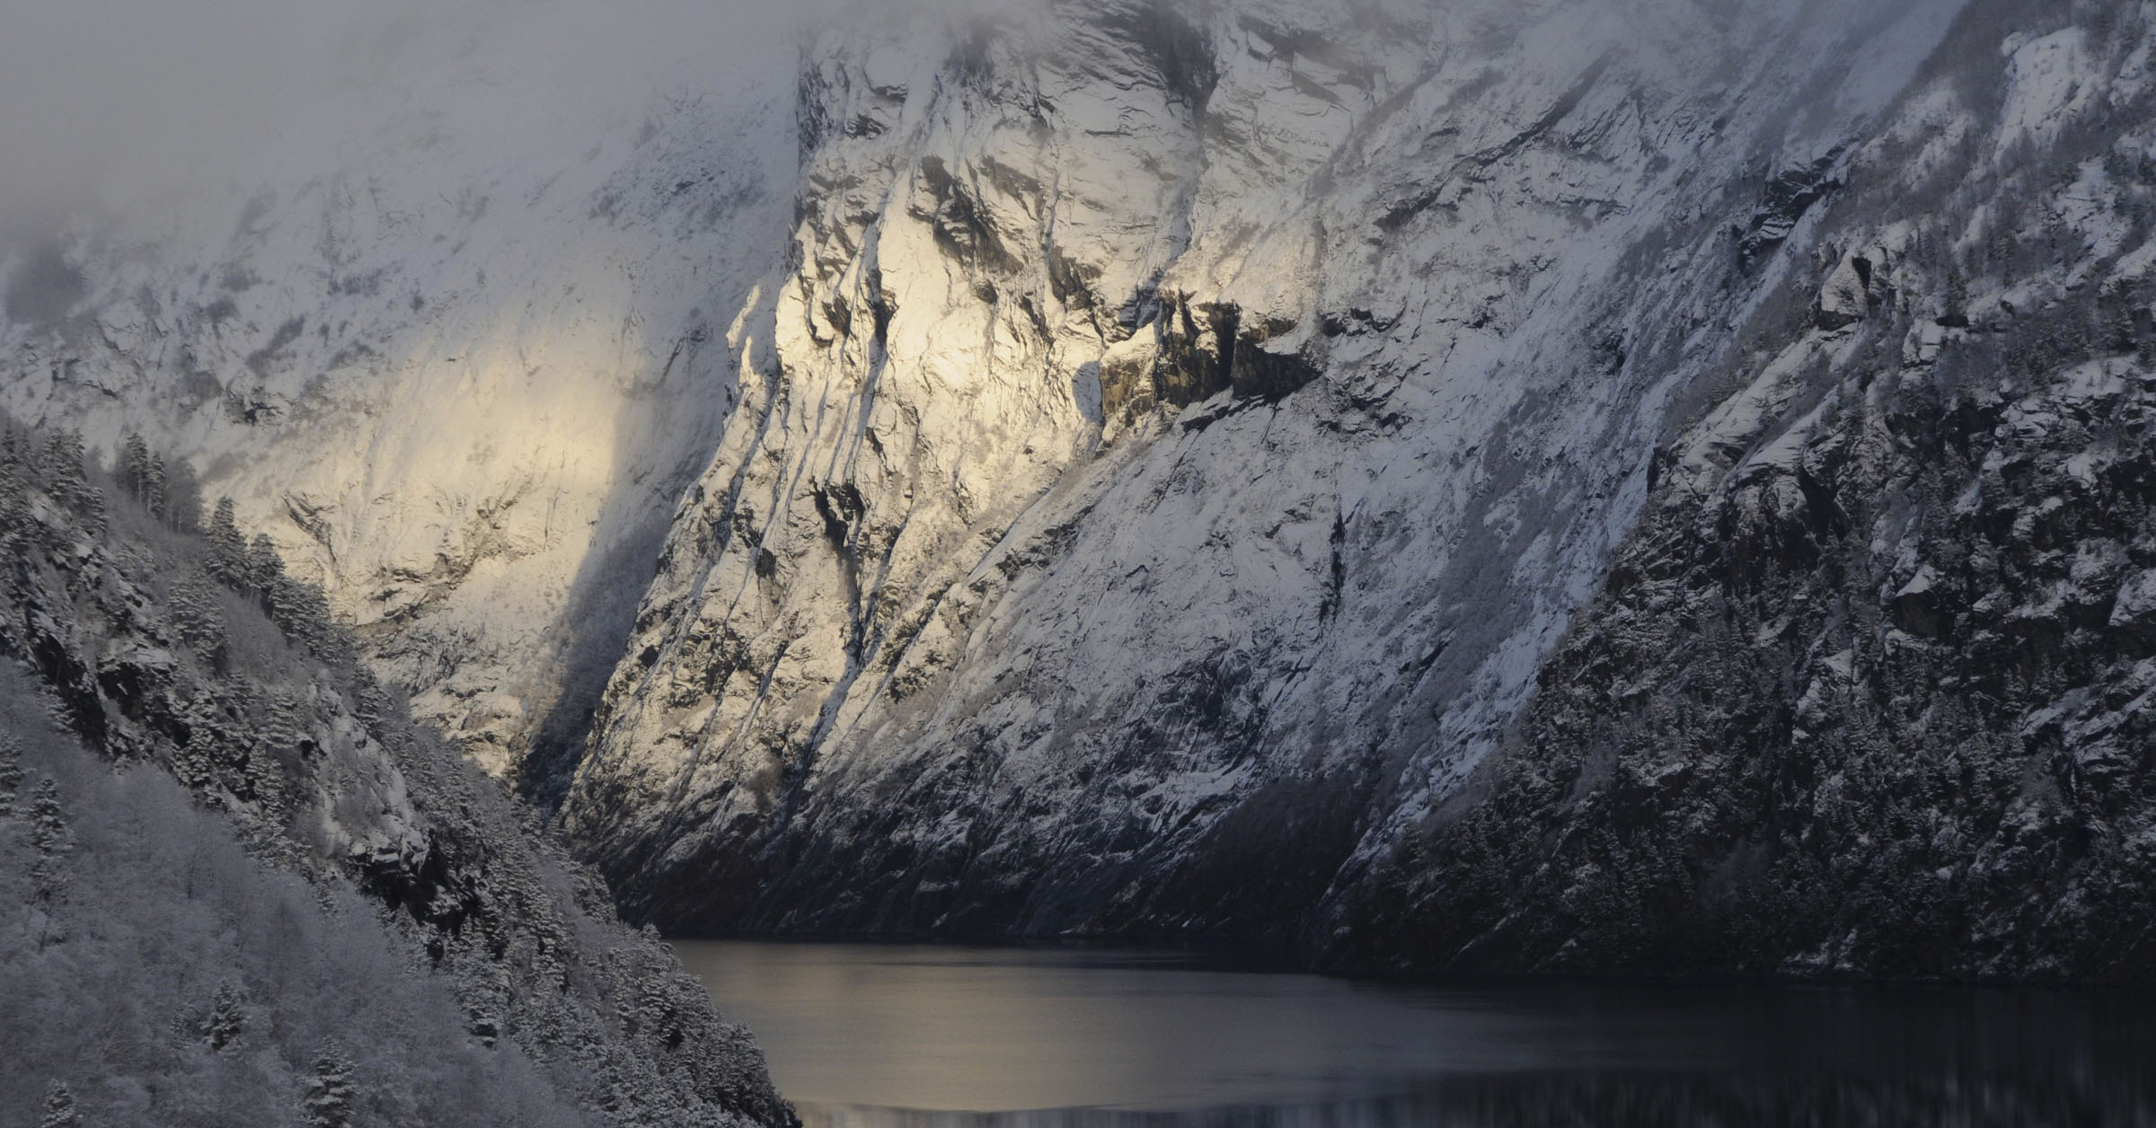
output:
[[675,947],[808,1128],[2156,1124],[2145,994],[1404,988],[1100,949]]

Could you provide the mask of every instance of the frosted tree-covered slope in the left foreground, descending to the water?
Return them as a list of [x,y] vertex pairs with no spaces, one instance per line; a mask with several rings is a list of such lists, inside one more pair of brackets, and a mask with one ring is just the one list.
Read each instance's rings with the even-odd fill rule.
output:
[[196,522],[136,442],[0,436],[0,1124],[789,1124],[321,593]]

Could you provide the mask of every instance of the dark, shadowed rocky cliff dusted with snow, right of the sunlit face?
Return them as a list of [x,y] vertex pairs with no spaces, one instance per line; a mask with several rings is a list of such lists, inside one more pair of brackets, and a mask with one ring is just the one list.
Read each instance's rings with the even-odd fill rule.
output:
[[1973,9],[1335,958],[2156,973],[2152,17]]

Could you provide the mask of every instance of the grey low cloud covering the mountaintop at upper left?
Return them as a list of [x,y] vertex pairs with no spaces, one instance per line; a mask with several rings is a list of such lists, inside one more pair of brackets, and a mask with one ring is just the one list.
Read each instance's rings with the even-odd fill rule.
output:
[[791,24],[752,0],[0,0],[0,255],[97,203],[334,162],[429,99],[483,93],[511,134],[632,108],[791,52]]

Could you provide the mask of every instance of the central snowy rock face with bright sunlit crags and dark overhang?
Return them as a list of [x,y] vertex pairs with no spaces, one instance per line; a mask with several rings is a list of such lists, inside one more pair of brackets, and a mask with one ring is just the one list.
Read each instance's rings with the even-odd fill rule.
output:
[[824,35],[565,826],[675,927],[1285,927],[1488,757],[1958,9]]

